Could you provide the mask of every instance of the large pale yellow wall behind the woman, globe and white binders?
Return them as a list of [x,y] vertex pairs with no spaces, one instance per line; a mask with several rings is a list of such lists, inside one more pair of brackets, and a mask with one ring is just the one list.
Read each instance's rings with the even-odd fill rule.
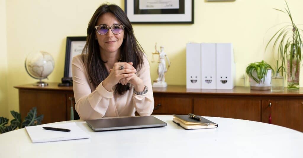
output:
[[[55,70],[49,76],[49,82],[60,82],[64,73],[66,37],[85,36],[89,19],[103,2],[105,1],[6,1],[9,96],[7,111],[18,111],[18,91],[13,86],[36,81],[25,72],[24,60],[27,54],[32,50],[51,53],[55,59]],[[124,0],[110,2],[124,8]],[[288,0],[288,3],[295,22],[302,24],[303,1]],[[195,0],[195,24],[134,24],[133,26],[135,35],[149,59],[151,52],[155,51],[156,42],[158,46],[165,47],[164,50],[172,63],[166,74],[168,84],[186,84],[186,43],[231,42],[235,47],[237,85],[241,85],[240,76],[244,74],[248,63],[262,59],[273,63],[272,54],[264,53],[264,48],[277,28],[266,32],[275,24],[289,22],[286,15],[272,9],[284,7],[283,0],[236,0],[235,2]],[[1,6],[0,10],[2,8],[5,9]],[[5,21],[5,17],[0,20]],[[3,27],[2,23],[0,27]],[[0,40],[5,38],[0,37]],[[157,78],[156,70],[157,63],[151,63],[152,80]],[[303,80],[301,85],[302,83]]]

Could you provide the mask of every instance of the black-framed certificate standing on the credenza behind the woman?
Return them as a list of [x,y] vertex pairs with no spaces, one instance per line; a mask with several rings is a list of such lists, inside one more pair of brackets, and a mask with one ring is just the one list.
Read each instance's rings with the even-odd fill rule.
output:
[[72,59],[81,54],[86,43],[86,36],[66,37],[64,77],[72,77]]

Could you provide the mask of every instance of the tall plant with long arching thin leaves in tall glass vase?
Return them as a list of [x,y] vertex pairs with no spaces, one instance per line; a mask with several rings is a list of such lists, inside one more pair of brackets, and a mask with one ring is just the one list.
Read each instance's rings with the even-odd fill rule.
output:
[[[282,67],[287,67],[287,88],[299,89],[300,63],[302,60],[302,39],[301,32],[297,25],[293,22],[290,9],[285,1],[287,8],[285,11],[276,9],[287,14],[291,23],[280,28],[269,40],[265,50],[271,42],[274,42],[272,50],[278,49],[278,59],[282,61]],[[283,71],[281,72],[283,76]]]

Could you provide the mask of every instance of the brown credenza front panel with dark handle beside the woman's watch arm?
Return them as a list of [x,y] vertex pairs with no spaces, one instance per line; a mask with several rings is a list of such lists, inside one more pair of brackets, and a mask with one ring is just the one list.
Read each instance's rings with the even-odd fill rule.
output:
[[156,114],[189,114],[193,112],[193,98],[182,95],[154,95]]

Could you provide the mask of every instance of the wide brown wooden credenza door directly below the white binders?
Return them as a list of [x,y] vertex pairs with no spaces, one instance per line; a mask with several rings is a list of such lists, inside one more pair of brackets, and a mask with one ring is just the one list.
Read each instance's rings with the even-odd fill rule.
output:
[[261,100],[249,97],[194,98],[194,114],[261,121]]

